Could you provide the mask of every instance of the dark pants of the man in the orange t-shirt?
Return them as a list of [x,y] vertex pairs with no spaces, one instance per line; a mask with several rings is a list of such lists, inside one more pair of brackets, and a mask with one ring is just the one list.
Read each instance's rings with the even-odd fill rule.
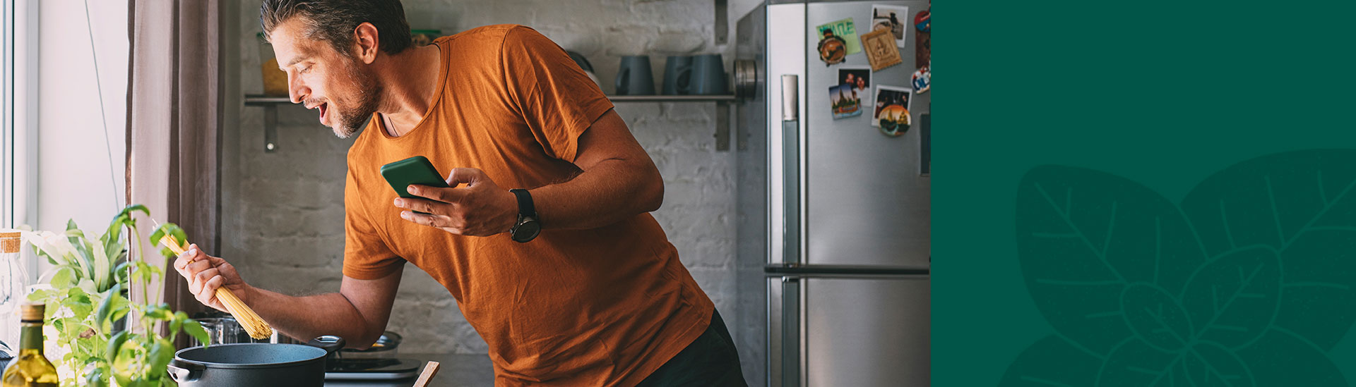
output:
[[749,386],[739,368],[739,352],[720,313],[711,313],[711,326],[669,363],[640,380],[644,387]]

